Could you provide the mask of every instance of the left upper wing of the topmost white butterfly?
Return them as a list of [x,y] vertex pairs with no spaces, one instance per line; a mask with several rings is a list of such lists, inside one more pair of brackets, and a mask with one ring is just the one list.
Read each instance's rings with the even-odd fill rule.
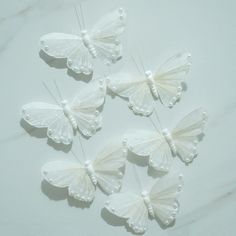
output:
[[41,49],[55,58],[68,58],[81,45],[81,39],[72,34],[49,33],[40,38]]

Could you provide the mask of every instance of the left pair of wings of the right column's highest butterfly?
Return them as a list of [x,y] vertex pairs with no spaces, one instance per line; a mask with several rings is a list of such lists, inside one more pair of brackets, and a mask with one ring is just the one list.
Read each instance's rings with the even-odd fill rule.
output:
[[118,73],[110,77],[108,87],[119,96],[128,98],[135,113],[145,116],[152,113],[154,100],[145,78]]

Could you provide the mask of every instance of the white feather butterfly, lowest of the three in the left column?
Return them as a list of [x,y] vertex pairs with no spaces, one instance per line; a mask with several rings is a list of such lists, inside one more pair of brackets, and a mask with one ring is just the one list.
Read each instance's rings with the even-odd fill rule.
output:
[[110,144],[84,165],[72,161],[49,162],[42,167],[42,175],[55,187],[68,187],[69,195],[75,199],[91,202],[97,185],[107,194],[120,190],[126,153],[125,146]]

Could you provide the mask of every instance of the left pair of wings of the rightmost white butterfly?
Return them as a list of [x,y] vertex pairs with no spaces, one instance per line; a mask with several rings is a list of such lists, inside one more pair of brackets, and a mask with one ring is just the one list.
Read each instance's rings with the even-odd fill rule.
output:
[[149,156],[149,165],[156,171],[168,172],[172,164],[171,150],[158,132],[135,130],[125,134],[128,149],[139,155]]

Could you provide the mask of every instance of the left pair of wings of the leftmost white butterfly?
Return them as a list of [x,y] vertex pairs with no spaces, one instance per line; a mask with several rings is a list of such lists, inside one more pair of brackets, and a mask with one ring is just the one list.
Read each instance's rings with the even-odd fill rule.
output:
[[22,118],[36,128],[48,128],[47,135],[56,143],[70,144],[73,128],[60,106],[32,102],[23,106]]

